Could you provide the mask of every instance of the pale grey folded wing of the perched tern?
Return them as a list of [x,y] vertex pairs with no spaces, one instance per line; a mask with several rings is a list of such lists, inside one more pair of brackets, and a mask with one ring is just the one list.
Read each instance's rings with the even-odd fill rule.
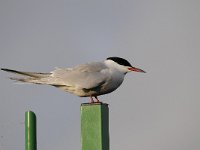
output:
[[52,76],[58,85],[92,89],[106,82],[107,76],[102,73],[104,69],[106,66],[101,63],[84,64],[72,69],[56,69]]

